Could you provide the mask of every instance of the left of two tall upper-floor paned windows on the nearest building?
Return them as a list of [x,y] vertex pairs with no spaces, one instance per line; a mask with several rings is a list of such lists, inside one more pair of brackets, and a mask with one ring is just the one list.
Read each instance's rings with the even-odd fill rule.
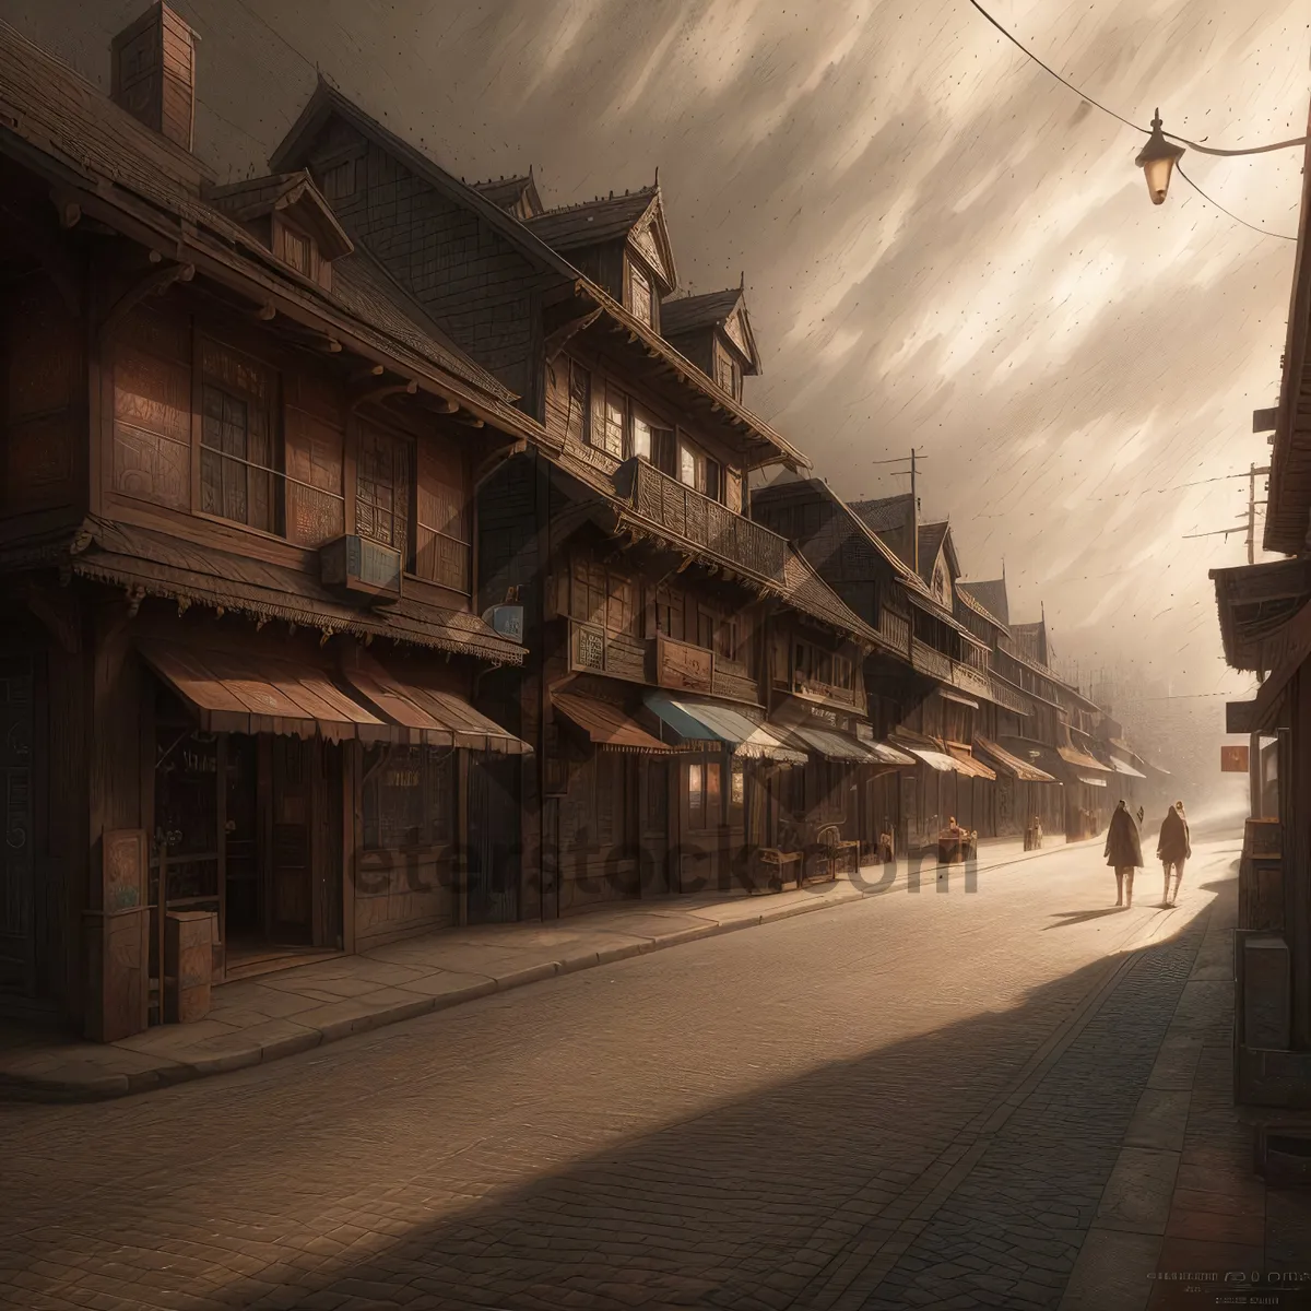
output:
[[201,345],[201,511],[277,532],[273,380],[254,361]]

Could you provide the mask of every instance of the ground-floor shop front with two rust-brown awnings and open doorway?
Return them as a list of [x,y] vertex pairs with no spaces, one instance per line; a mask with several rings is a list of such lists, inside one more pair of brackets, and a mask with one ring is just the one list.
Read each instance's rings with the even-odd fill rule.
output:
[[[219,983],[469,920],[486,825],[471,794],[517,738],[440,686],[435,661],[177,637],[135,644],[151,1023],[178,923],[208,918]],[[481,844],[489,867],[511,840]]]

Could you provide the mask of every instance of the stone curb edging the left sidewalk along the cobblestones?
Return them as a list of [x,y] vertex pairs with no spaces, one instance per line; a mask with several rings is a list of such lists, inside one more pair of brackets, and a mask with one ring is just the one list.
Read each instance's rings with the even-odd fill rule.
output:
[[[1062,843],[1042,848],[1040,851],[1017,852],[1009,860],[998,861],[991,865],[981,865],[979,873],[1013,868],[1027,864],[1030,860],[1041,859],[1059,851],[1083,843]],[[926,865],[926,868],[932,868]],[[954,867],[953,867],[954,868]],[[861,890],[847,884],[830,891],[819,893],[806,901],[793,902],[776,909],[763,907],[755,915],[742,915],[728,920],[718,920],[695,928],[678,929],[661,937],[636,944],[623,944],[620,947],[583,950],[577,956],[569,956],[558,961],[545,961],[539,965],[528,965],[523,969],[510,970],[496,978],[485,979],[480,983],[469,983],[464,987],[443,992],[437,996],[416,995],[413,1000],[391,1002],[376,1009],[364,1009],[359,1015],[334,1020],[323,1028],[304,1028],[299,1033],[284,1033],[279,1037],[269,1038],[265,1042],[243,1044],[240,1034],[232,1038],[229,1050],[216,1050],[193,1061],[165,1061],[157,1065],[135,1070],[126,1074],[101,1074],[87,1078],[46,1078],[41,1075],[14,1075],[0,1071],[0,1103],[5,1101],[35,1101],[35,1103],[90,1103],[110,1101],[117,1097],[134,1096],[142,1092],[153,1092],[180,1083],[189,1083],[193,1079],[203,1079],[210,1075],[227,1074],[233,1070],[246,1070],[250,1066],[265,1065],[270,1061],[279,1061],[283,1057],[299,1055],[328,1042],[337,1042],[341,1038],[354,1037],[359,1033],[370,1033],[391,1024],[400,1024],[404,1020],[418,1019],[437,1011],[447,1011],[451,1007],[475,1002],[479,998],[493,994],[509,992],[514,988],[524,987],[528,983],[540,983],[544,979],[556,978],[564,974],[577,974],[581,970],[595,969],[602,965],[614,965],[619,961],[631,960],[637,956],[646,956],[652,952],[665,950],[670,947],[682,947],[686,943],[700,941],[707,937],[718,937],[722,933],[735,933],[743,928],[756,928],[762,924],[772,924],[785,919],[794,919],[798,915],[809,915],[813,911],[831,910],[835,906],[848,906],[863,902],[869,897],[880,897],[905,886],[906,874],[898,869],[897,878],[882,888]],[[690,909],[695,914],[695,907]],[[295,1024],[294,1020],[286,1021]]]

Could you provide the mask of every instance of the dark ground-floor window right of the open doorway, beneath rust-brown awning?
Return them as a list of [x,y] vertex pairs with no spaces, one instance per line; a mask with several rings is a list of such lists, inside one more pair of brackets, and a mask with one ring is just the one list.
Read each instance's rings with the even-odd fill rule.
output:
[[364,756],[367,851],[455,840],[455,753],[450,747],[378,746]]

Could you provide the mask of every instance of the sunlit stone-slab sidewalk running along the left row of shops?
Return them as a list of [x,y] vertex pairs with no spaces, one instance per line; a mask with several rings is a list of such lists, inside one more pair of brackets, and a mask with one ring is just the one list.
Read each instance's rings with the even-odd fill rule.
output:
[[[978,869],[1065,851],[1027,852],[1016,840],[981,846]],[[358,956],[334,956],[214,990],[207,1019],[97,1044],[0,1029],[0,1100],[88,1101],[240,1070],[353,1033],[409,1020],[556,974],[608,965],[716,933],[827,910],[906,886],[907,868],[881,886],[882,867],[798,891],[708,893],[623,902],[549,923],[486,924],[408,937]],[[926,865],[922,881],[936,877]],[[960,878],[960,867],[953,868]]]

